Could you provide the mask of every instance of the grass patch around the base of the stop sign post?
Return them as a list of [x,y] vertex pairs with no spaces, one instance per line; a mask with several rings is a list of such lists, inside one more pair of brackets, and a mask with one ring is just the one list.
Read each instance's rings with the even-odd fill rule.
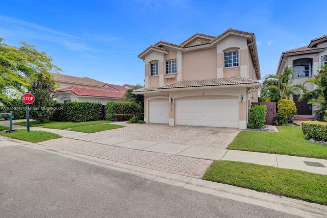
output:
[[51,133],[51,132],[44,132],[44,131],[30,131],[27,132],[25,129],[17,130],[16,132],[12,133],[6,133],[6,132],[0,132],[0,135],[10,137],[10,138],[16,138],[24,141],[30,141],[33,143],[37,143],[40,141],[46,141],[50,139],[55,138],[61,138],[60,135]]

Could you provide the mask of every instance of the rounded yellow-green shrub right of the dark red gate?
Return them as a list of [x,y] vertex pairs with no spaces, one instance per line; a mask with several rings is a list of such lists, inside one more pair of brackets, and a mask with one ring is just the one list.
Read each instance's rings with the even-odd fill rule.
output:
[[281,99],[277,104],[277,114],[274,117],[274,124],[287,125],[296,114],[296,106],[294,101]]

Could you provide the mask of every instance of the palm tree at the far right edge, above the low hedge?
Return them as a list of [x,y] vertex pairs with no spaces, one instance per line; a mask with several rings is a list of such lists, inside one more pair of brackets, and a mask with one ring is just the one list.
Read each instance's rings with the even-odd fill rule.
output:
[[308,104],[319,105],[316,106],[318,110],[315,110],[315,115],[318,120],[322,120],[326,116],[327,112],[327,64],[321,65],[317,70],[318,74],[314,78],[306,79],[303,84],[313,83],[315,89],[307,91],[305,98],[308,100]]

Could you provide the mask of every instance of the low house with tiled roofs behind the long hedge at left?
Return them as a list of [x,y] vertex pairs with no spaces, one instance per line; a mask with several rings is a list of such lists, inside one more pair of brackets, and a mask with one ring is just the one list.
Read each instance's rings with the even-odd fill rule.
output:
[[61,86],[54,91],[54,98],[59,103],[92,102],[106,105],[109,101],[122,101],[125,92],[134,86],[107,84],[87,77],[72,77],[68,75],[53,74]]

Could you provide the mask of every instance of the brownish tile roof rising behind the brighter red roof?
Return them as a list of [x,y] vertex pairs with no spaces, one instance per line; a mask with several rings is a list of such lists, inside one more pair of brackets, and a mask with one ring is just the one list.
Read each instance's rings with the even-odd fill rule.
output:
[[89,86],[103,86],[104,83],[88,78],[88,77],[73,77],[63,74],[54,74],[52,76],[57,82],[75,83],[79,85],[89,85]]

